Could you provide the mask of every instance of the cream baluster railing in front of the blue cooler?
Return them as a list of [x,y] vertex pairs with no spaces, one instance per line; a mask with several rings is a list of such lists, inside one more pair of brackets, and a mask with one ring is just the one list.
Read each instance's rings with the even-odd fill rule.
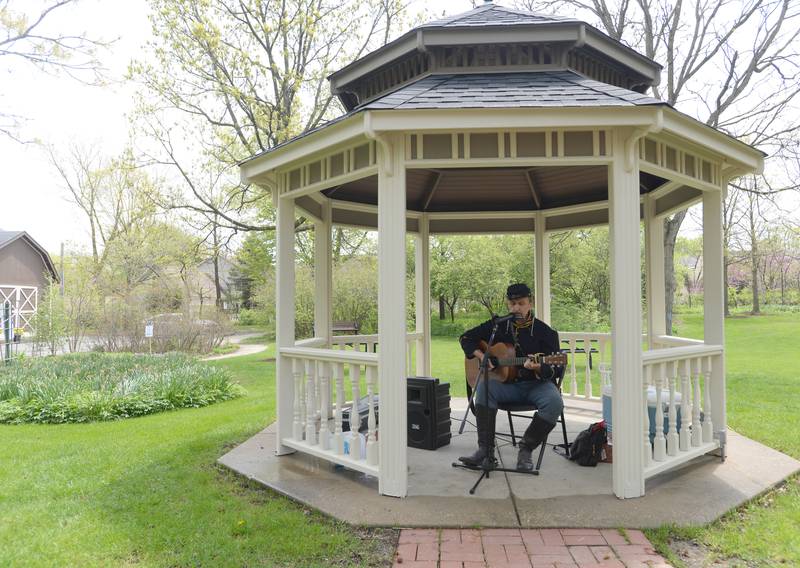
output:
[[719,447],[711,416],[711,370],[722,363],[723,348],[688,341],[694,344],[642,354],[645,478]]

